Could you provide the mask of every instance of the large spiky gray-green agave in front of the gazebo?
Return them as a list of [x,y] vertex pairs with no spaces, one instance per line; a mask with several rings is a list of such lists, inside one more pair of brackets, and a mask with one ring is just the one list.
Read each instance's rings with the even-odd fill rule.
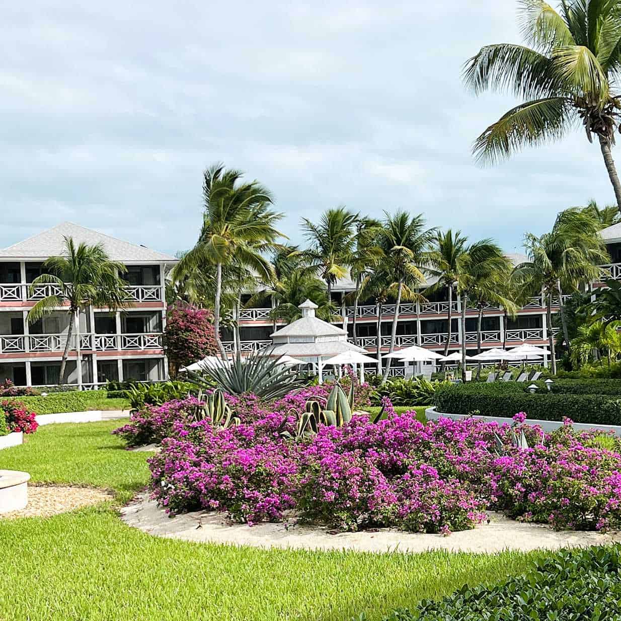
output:
[[284,397],[300,388],[304,379],[291,368],[278,364],[269,352],[254,351],[246,358],[235,356],[230,366],[205,368],[202,374],[189,373],[188,380],[199,388],[211,388],[212,383],[233,395],[255,394],[260,399]]

